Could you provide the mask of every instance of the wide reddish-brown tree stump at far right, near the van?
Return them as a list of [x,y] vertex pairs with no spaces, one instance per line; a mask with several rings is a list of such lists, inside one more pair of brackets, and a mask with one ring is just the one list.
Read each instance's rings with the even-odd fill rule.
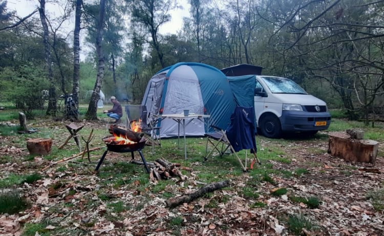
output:
[[329,134],[328,153],[348,162],[376,161],[379,143],[373,140],[356,140],[344,132]]

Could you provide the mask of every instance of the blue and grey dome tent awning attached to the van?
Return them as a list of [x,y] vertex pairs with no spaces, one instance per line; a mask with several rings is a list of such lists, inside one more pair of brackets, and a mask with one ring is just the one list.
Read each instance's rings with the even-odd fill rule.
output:
[[[243,77],[242,80],[240,77]],[[141,105],[146,106],[148,119],[151,120],[156,114],[182,114],[184,109],[189,109],[189,113],[209,114],[210,125],[226,129],[239,101],[242,103],[246,100],[248,105],[253,106],[255,79],[252,75],[248,79],[246,77],[227,78],[217,68],[202,63],[177,63],[160,70],[151,78]],[[253,85],[245,81],[252,81]],[[251,92],[245,92],[247,89]],[[234,95],[233,91],[238,95]],[[240,94],[250,95],[244,99]],[[157,125],[161,127],[161,137],[178,135],[178,123],[172,119],[164,119]],[[186,126],[185,134],[200,136],[206,130],[214,132],[214,129],[204,125],[207,124],[194,119]]]

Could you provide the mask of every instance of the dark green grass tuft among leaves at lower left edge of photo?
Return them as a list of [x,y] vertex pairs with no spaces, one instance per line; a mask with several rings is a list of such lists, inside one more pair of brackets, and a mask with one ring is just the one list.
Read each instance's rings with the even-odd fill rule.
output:
[[27,200],[16,191],[0,193],[0,213],[15,214],[26,209]]

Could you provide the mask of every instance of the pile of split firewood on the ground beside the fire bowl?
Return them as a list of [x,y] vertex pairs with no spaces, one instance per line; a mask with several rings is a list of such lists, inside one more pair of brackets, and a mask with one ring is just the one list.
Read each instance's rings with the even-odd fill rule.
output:
[[[140,161],[132,160],[131,163],[143,165]],[[187,176],[182,174],[179,167],[180,163],[170,163],[167,160],[161,158],[155,162],[147,162],[148,168],[151,168],[150,179],[152,182],[158,182],[160,180],[167,180],[173,176],[177,176],[180,180],[187,180]]]

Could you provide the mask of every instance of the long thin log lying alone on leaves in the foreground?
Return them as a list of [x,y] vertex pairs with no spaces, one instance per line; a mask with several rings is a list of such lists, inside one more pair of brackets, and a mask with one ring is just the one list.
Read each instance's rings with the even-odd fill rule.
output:
[[165,201],[165,204],[167,207],[175,207],[175,206],[178,206],[182,203],[187,203],[187,202],[190,202],[194,199],[197,199],[199,198],[200,196],[204,195],[205,193],[207,192],[213,192],[217,189],[221,189],[221,188],[224,188],[224,187],[227,187],[229,185],[229,181],[226,180],[226,181],[222,181],[222,182],[217,182],[217,183],[212,183],[212,184],[208,184],[208,185],[205,185],[204,187],[194,191],[194,192],[191,192],[189,194],[184,194],[184,195],[181,195],[181,196],[175,196],[174,198],[170,198],[168,199],[167,201]]

